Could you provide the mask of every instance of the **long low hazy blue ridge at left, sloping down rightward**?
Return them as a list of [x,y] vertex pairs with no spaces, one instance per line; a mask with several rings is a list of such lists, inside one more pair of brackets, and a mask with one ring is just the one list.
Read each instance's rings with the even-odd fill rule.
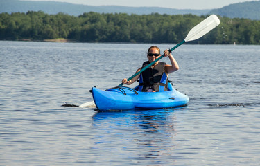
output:
[[82,15],[84,12],[99,13],[127,13],[128,15],[149,15],[151,13],[168,14],[168,15],[207,15],[209,10],[191,10],[191,9],[174,9],[158,7],[127,7],[127,6],[87,6],[73,3],[63,3],[56,1],[20,1],[20,0],[0,0],[0,13],[8,12],[28,12],[43,11],[49,15],[55,15],[59,12],[68,15]]

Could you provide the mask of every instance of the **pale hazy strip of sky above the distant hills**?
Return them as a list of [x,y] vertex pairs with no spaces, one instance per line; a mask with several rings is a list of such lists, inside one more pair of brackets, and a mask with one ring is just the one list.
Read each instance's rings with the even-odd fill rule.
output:
[[177,9],[213,9],[222,8],[232,3],[253,0],[26,0],[26,1],[60,1],[89,6],[157,6]]

